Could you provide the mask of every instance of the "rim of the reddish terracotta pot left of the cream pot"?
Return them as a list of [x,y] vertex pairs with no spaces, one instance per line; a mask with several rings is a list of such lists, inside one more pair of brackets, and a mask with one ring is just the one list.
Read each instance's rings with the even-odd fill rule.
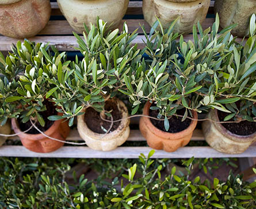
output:
[[[62,116],[62,113],[58,112],[58,116]],[[44,132],[44,134],[47,135],[47,136],[51,136],[56,131],[56,129],[58,129],[60,123],[62,123],[62,122],[63,122],[63,119],[54,121],[54,123],[51,125],[51,127],[49,127]],[[20,129],[20,125],[18,124],[17,119],[12,119],[12,126],[13,126],[13,129],[14,129],[14,132],[16,132],[16,133],[22,132],[21,129]],[[48,137],[44,136],[41,133],[36,133],[36,134],[20,133],[18,136],[19,137],[24,137],[24,138],[26,138],[28,140],[32,140],[32,141],[39,141],[39,140],[43,140],[45,138],[48,139]]]

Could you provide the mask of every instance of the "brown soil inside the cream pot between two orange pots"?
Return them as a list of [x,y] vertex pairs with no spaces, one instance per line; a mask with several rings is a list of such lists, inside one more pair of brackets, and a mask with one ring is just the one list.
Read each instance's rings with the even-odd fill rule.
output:
[[[106,101],[105,111],[108,111],[108,112],[112,111],[110,113],[113,117],[113,120],[120,120],[122,118],[119,108],[117,108],[116,103],[113,101]],[[107,116],[105,119],[111,120],[111,118],[107,117]],[[93,131],[95,133],[101,133],[101,134],[106,133],[106,131],[108,131],[108,129],[111,126],[111,122],[102,120],[101,116],[100,116],[100,112],[95,111],[93,108],[86,109],[85,123],[91,131]],[[121,123],[121,121],[113,123],[113,126],[109,132],[115,131],[119,127],[120,123]]]

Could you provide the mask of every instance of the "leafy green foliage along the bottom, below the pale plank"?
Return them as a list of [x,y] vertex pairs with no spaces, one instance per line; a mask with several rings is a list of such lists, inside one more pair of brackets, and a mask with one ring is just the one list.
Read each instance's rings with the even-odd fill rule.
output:
[[[70,170],[66,161],[1,159],[0,207],[254,208],[256,204],[256,182],[244,182],[242,176],[230,173],[226,182],[215,178],[211,185],[199,177],[189,180],[190,172],[179,176],[175,167],[162,176],[162,165],[155,166],[152,155],[154,151],[141,154],[139,162],[125,167],[125,181],[114,178],[108,183],[98,178],[91,182],[74,173],[75,184],[66,182]],[[193,161],[184,161],[189,171]]]

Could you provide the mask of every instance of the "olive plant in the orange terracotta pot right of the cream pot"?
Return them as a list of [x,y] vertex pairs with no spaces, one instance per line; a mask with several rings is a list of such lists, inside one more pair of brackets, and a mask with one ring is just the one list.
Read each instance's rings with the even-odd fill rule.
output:
[[[158,23],[162,33],[154,33],[152,29],[150,37],[146,36],[146,53],[151,60],[143,61],[142,70],[134,70],[129,75],[125,82],[127,89],[125,92],[121,91],[129,95],[129,101],[133,104],[133,114],[143,101],[147,101],[143,109],[145,117],[140,119],[140,131],[147,139],[148,145],[154,149],[173,152],[189,143],[196,128],[197,111],[200,112],[201,105],[200,96],[193,92],[201,86],[196,86],[194,77],[190,74],[184,78],[178,75],[184,74],[183,69],[190,68],[190,62],[195,56],[190,54],[185,65],[177,60],[178,44],[175,38],[178,35],[173,34],[175,22],[166,32],[161,22]],[[184,46],[182,40],[181,43]],[[157,46],[159,49],[155,49]],[[170,64],[174,60],[177,63]],[[174,74],[173,70],[179,72]]]

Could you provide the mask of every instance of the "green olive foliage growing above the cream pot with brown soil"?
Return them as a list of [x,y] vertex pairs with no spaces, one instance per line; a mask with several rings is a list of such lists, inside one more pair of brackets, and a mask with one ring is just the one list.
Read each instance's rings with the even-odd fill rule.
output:
[[131,45],[137,36],[136,31],[128,34],[126,23],[120,35],[118,29],[109,31],[101,19],[98,19],[97,26],[91,25],[90,30],[85,26],[85,30],[85,40],[74,33],[83,60],[80,62],[77,58],[70,64],[70,73],[63,76],[62,84],[56,84],[57,93],[52,94],[62,109],[63,117],[70,119],[70,125],[74,116],[82,114],[83,108],[92,107],[110,116],[104,110],[105,101],[124,88],[127,74],[140,68],[137,62],[142,57],[137,45]]

